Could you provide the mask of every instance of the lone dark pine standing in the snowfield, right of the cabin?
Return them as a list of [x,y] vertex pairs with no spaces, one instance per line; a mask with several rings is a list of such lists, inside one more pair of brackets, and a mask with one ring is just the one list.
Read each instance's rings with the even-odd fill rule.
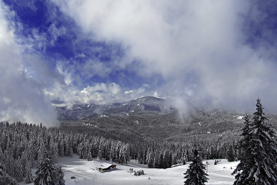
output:
[[205,172],[206,167],[202,163],[202,151],[199,147],[195,147],[194,149],[194,159],[192,163],[189,165],[189,168],[184,173],[186,175],[184,178],[187,180],[184,182],[185,185],[204,185],[204,183],[208,182],[208,174]]

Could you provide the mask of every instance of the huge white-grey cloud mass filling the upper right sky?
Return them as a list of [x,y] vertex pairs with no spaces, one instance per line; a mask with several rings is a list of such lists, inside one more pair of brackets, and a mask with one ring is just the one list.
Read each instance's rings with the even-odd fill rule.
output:
[[[129,60],[117,65],[139,60],[141,76],[161,74],[166,85],[157,88],[159,94],[183,91],[194,101],[211,99],[214,105],[242,109],[262,96],[275,107],[270,99],[277,92],[276,66],[268,57],[275,49],[245,44],[250,1],[54,2],[93,39],[122,43]],[[251,13],[259,22],[261,12]]]

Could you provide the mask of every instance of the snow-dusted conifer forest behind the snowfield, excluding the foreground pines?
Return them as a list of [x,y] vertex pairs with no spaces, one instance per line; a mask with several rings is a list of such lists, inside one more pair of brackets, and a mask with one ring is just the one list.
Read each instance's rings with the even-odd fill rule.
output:
[[[1,184],[6,181],[17,184],[25,177],[26,183],[39,184],[35,178],[42,173],[41,166],[45,162],[52,165],[56,174],[53,182],[62,184],[63,172],[54,163],[58,156],[72,156],[73,153],[88,161],[105,158],[128,163],[135,159],[149,168],[170,168],[192,161],[197,146],[203,153],[203,160],[241,160],[246,118],[255,118],[255,115],[245,114],[243,119],[238,119],[238,113],[209,116],[191,113],[181,120],[176,113],[157,114],[145,112],[129,117],[108,114],[80,121],[61,121],[59,127],[48,128],[20,121],[1,122]],[[267,114],[266,117],[276,128],[276,115]],[[30,173],[34,164],[38,168],[35,177]]]

